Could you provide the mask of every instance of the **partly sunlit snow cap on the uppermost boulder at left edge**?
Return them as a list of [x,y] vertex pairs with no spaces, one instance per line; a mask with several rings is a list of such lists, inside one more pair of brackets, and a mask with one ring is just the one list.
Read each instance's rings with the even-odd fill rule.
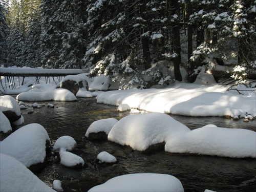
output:
[[0,97],[0,106],[0,111],[2,112],[12,111],[17,114],[17,116],[22,115],[18,102],[10,95],[4,95]]

